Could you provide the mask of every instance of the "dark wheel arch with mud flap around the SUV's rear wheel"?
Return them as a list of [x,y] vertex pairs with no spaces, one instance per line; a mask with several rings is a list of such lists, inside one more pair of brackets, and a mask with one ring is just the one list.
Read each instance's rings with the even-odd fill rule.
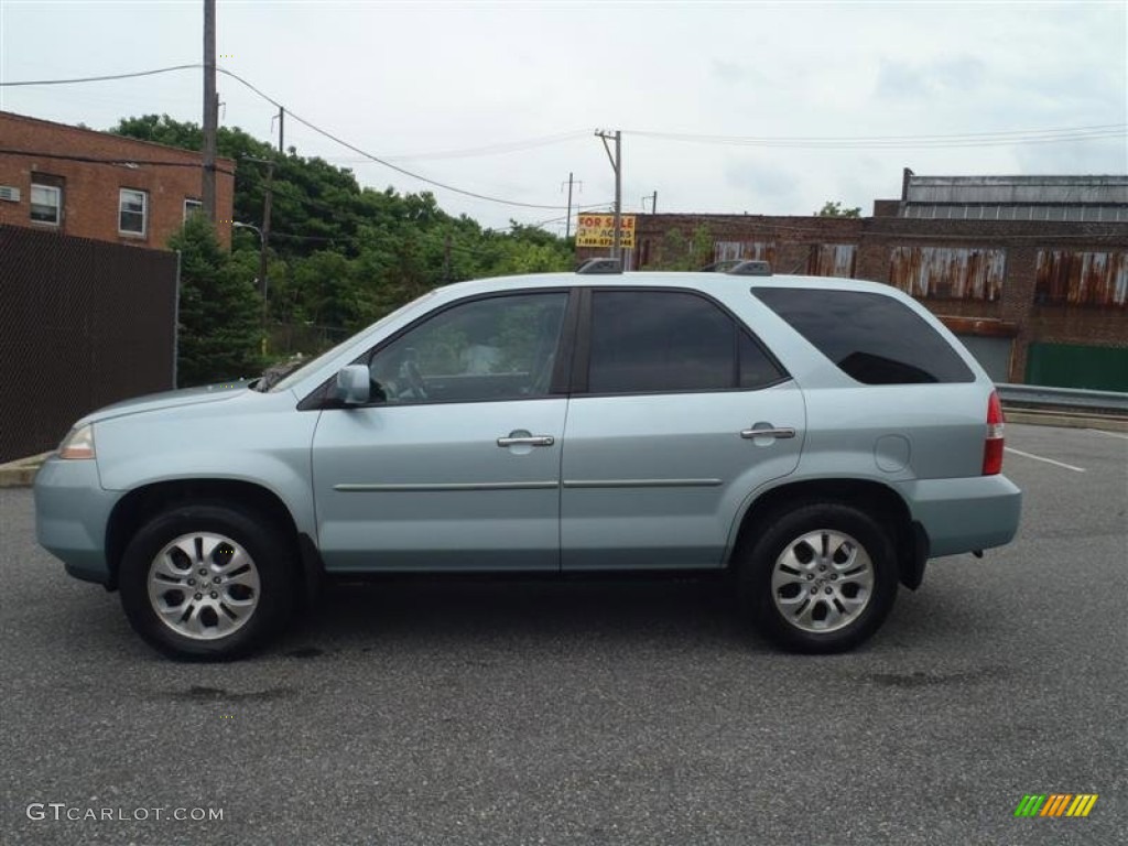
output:
[[778,485],[756,496],[737,522],[729,545],[728,566],[739,557],[742,545],[757,537],[772,515],[783,509],[804,504],[835,502],[861,509],[883,526],[891,527],[891,540],[897,555],[900,582],[916,590],[924,578],[928,558],[928,537],[915,522],[905,500],[888,485],[873,479],[828,478],[804,479]]

